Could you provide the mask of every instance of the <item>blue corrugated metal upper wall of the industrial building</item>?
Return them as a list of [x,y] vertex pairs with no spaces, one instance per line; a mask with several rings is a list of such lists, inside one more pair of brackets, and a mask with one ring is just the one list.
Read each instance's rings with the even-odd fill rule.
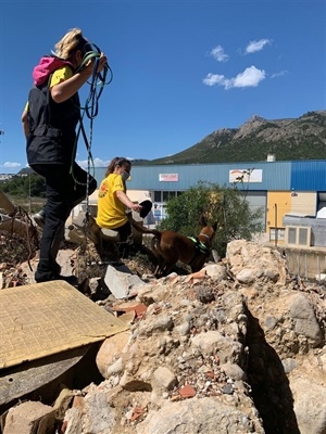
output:
[[[192,164],[134,166],[129,190],[183,191],[199,181],[230,187],[229,171],[262,169],[262,182],[248,182],[248,190],[261,191],[326,191],[326,161],[249,162],[227,164]],[[95,176],[100,182],[105,168],[97,167]],[[160,174],[178,174],[177,182],[160,182]]]

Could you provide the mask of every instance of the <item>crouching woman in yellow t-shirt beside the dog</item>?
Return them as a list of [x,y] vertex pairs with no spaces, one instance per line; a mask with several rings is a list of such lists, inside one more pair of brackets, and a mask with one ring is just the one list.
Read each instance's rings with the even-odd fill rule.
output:
[[126,208],[137,213],[142,209],[129,200],[126,194],[126,180],[131,173],[131,163],[125,157],[111,161],[105,178],[102,180],[98,194],[97,224],[100,228],[113,229],[118,232],[122,242],[131,234],[131,226],[126,215]]

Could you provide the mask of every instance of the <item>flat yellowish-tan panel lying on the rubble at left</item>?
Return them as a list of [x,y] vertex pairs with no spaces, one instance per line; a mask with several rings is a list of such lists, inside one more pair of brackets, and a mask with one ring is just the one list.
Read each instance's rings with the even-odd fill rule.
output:
[[65,281],[0,291],[0,369],[103,341],[126,323]]

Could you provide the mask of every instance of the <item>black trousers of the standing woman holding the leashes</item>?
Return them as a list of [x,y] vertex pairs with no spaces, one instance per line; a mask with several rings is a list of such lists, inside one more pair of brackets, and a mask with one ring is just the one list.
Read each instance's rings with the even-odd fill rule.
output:
[[55,259],[64,238],[67,217],[86,199],[86,194],[96,190],[97,181],[76,163],[72,170],[71,166],[61,164],[38,164],[30,167],[46,178],[47,186],[46,220],[35,273],[37,282],[45,282],[55,279],[60,273]]

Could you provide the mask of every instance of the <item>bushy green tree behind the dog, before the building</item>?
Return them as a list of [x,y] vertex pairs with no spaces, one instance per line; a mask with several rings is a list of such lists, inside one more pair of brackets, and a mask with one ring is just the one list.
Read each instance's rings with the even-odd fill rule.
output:
[[262,232],[263,209],[252,210],[246,200],[246,192],[238,189],[220,187],[216,183],[199,182],[166,204],[167,217],[159,229],[172,229],[186,237],[200,232],[200,216],[204,215],[210,224],[217,221],[217,231],[213,248],[224,257],[227,243],[231,240],[251,240]]

